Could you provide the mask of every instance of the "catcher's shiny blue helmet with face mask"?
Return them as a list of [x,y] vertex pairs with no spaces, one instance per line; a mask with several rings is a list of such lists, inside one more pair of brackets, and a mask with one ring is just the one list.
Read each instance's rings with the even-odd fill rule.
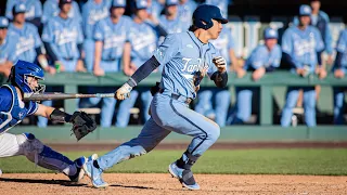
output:
[[39,84],[39,87],[34,90],[30,88],[27,81],[28,76],[41,80],[44,79],[44,73],[38,65],[25,61],[17,61],[17,63],[11,68],[9,81],[12,84],[17,86],[24,93],[42,92],[44,90],[43,84]]

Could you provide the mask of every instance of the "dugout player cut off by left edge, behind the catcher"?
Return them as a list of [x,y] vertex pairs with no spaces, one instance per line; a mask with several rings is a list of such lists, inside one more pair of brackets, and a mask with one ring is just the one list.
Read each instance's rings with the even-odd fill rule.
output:
[[10,76],[11,67],[17,60],[15,43],[18,39],[16,35],[9,32],[8,27],[9,20],[0,16],[0,77],[4,76],[5,78]]

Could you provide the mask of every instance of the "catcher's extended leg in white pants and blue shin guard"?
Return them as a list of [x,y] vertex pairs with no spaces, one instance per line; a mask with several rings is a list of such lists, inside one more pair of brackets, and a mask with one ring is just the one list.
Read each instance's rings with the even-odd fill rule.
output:
[[42,144],[31,133],[0,134],[0,158],[24,155],[40,167],[56,170],[66,176],[77,171],[74,161]]

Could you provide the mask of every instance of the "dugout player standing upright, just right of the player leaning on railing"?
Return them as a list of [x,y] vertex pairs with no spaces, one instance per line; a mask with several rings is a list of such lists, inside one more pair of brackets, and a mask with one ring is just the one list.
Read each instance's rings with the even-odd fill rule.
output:
[[[286,29],[282,38],[283,58],[291,64],[292,73],[307,77],[317,74],[320,79],[326,77],[326,70],[322,67],[321,53],[324,42],[319,30],[310,26],[311,8],[299,8],[299,24]],[[282,110],[281,126],[288,127],[296,105],[299,90],[304,91],[305,121],[308,127],[314,127],[316,122],[316,90],[314,87],[288,87],[286,103]]]

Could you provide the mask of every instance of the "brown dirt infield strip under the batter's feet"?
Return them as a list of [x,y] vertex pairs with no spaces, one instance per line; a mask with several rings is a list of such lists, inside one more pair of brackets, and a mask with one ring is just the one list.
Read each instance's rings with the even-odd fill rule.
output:
[[93,188],[88,178],[70,183],[63,174],[2,174],[1,193],[23,194],[346,194],[347,177],[314,176],[217,176],[196,174],[201,191],[188,191],[167,174],[105,173],[105,190]]

